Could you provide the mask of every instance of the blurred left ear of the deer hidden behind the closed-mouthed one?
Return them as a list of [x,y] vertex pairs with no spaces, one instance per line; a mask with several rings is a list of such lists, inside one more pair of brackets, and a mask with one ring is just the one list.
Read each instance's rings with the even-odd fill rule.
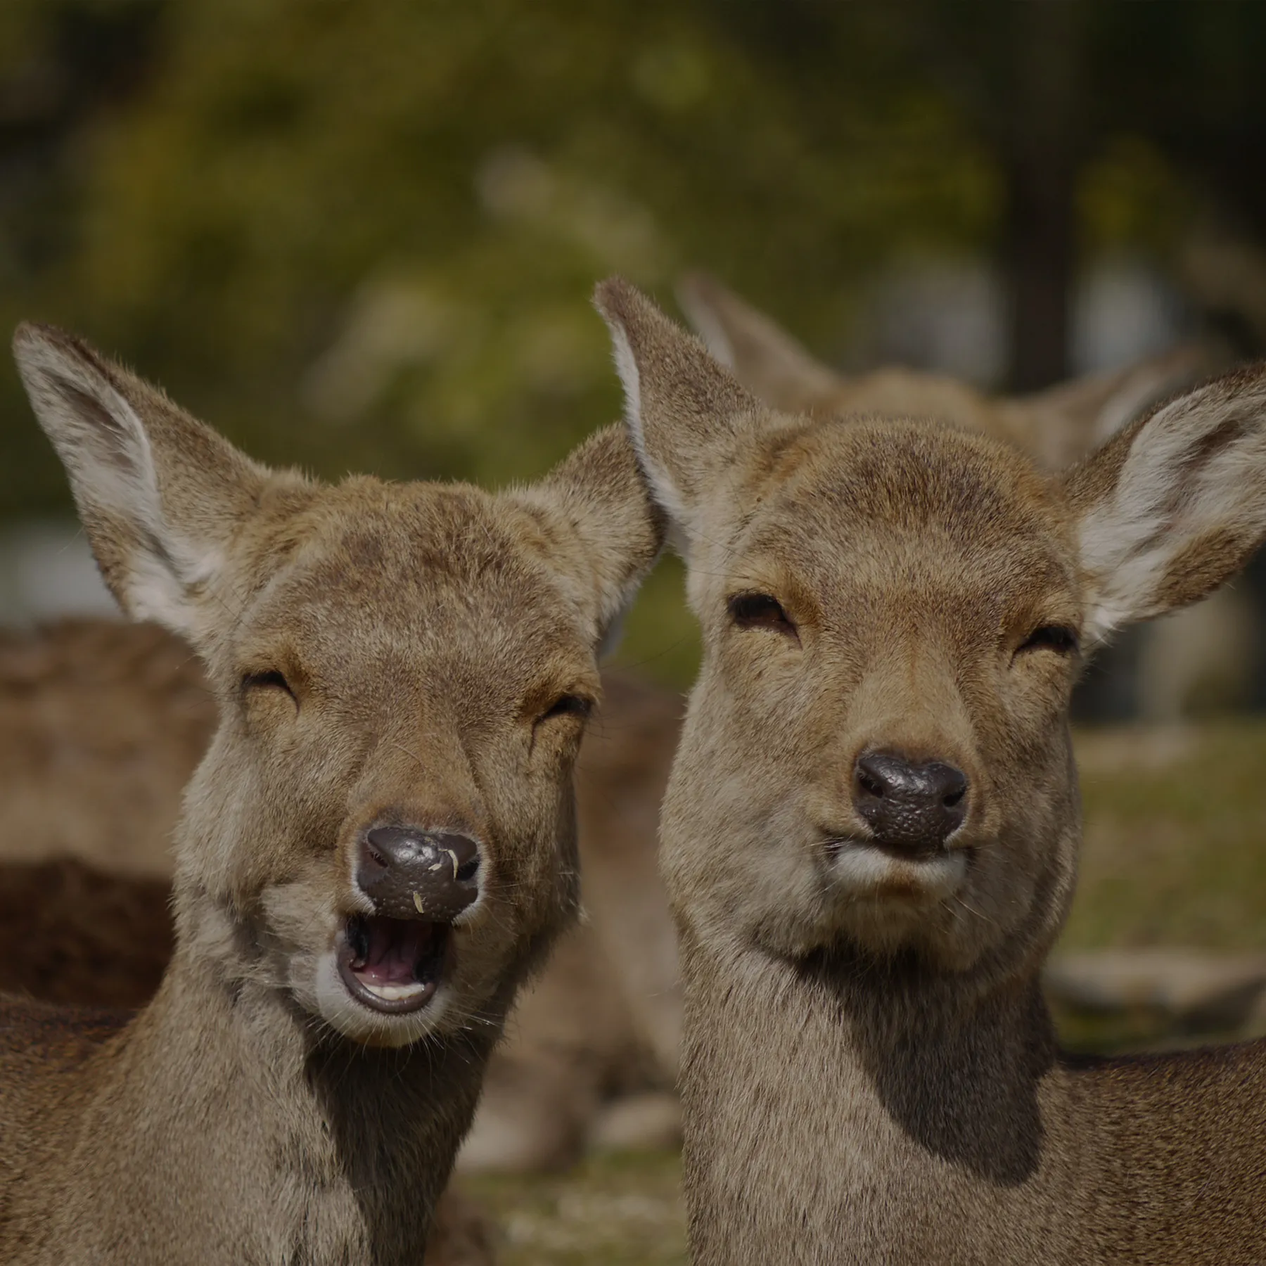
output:
[[770,408],[801,413],[839,391],[834,370],[708,273],[685,276],[677,303],[715,360]]

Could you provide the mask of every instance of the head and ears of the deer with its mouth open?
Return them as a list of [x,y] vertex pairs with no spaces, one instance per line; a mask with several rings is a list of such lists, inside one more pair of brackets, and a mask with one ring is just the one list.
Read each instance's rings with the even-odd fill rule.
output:
[[328,486],[66,334],[14,347],[106,584],[218,698],[177,962],[368,1044],[499,1018],[573,915],[595,656],[658,548],[624,437],[499,495]]

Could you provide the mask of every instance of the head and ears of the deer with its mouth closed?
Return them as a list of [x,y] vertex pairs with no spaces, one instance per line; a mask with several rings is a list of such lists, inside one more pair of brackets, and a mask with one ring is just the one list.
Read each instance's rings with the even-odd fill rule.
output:
[[596,303],[703,628],[661,827],[687,941],[1034,967],[1076,868],[1074,682],[1266,537],[1266,370],[1052,476],[944,424],[776,413],[627,284]]

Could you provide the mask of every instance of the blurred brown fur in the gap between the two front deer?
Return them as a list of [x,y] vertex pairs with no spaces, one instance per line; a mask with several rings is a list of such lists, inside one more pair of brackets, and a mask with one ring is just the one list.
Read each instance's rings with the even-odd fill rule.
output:
[[605,677],[576,763],[587,918],[511,1017],[462,1171],[567,1165],[615,1114],[622,1146],[677,1141],[681,986],[656,828],[680,724],[679,696]]

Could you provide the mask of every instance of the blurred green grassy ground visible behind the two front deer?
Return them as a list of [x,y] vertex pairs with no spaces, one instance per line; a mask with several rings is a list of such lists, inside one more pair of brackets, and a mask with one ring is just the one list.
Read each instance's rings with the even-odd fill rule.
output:
[[[1079,737],[1086,838],[1062,944],[1266,948],[1266,722]],[[1086,1047],[1162,1041],[1125,1017],[1061,1017]],[[675,1155],[601,1157],[470,1188],[503,1228],[504,1266],[685,1262]]]

